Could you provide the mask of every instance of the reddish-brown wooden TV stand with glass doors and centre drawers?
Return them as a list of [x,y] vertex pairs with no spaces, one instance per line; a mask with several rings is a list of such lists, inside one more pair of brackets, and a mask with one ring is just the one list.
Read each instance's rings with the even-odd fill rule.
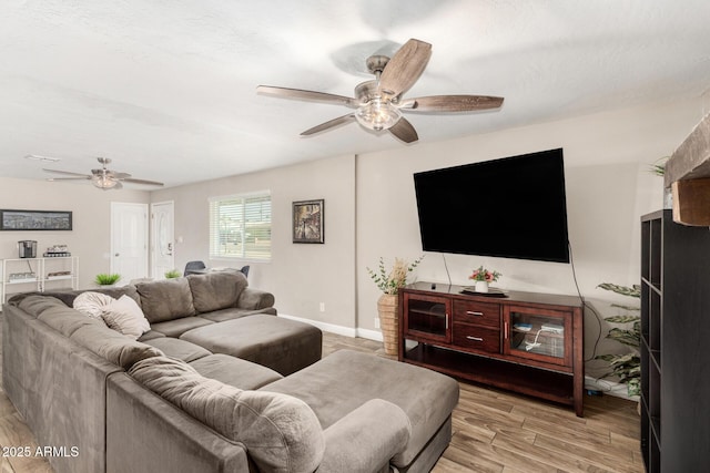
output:
[[569,404],[582,417],[581,299],[464,289],[432,282],[400,289],[399,361]]

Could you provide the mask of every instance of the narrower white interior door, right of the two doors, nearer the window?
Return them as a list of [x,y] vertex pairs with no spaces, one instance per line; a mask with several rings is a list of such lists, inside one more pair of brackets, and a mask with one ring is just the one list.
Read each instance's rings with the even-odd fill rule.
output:
[[175,214],[172,202],[151,205],[151,275],[163,279],[175,269]]

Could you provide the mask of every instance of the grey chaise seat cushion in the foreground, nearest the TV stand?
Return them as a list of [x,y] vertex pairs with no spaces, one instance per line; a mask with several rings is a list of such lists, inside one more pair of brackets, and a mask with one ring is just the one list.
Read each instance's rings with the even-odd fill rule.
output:
[[304,400],[324,429],[371,399],[398,405],[412,423],[407,448],[393,459],[398,467],[409,465],[458,403],[458,383],[453,378],[352,350],[338,350],[261,390]]

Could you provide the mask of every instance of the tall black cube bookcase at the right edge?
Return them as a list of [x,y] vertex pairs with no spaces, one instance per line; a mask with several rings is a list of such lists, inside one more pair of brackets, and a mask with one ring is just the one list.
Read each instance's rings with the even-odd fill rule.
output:
[[641,452],[649,473],[710,461],[710,229],[641,217]]

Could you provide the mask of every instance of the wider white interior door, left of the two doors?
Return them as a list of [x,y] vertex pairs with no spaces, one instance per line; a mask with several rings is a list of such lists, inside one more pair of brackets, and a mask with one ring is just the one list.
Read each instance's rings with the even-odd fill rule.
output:
[[148,277],[148,204],[111,203],[111,273],[119,285]]

